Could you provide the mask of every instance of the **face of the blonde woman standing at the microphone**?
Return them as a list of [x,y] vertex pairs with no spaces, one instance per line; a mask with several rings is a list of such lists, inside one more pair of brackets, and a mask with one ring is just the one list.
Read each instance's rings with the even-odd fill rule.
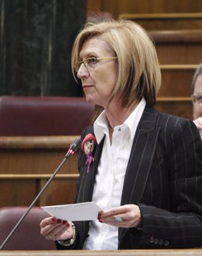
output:
[[[113,52],[101,36],[92,37],[82,45],[79,57],[81,60],[113,57]],[[106,107],[117,83],[117,65],[117,59],[94,59],[82,63],[77,76],[82,81],[87,101]]]

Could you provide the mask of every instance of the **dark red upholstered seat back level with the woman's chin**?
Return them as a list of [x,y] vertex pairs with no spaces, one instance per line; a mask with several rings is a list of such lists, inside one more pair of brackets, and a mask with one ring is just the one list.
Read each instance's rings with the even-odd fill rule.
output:
[[0,97],[0,136],[80,135],[94,105],[82,97]]

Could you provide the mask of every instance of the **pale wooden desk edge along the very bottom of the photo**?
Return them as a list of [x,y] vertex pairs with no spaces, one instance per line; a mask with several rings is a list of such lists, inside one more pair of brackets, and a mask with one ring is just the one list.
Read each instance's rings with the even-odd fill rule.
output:
[[197,256],[202,255],[202,249],[176,250],[119,250],[119,251],[0,251],[0,256]]

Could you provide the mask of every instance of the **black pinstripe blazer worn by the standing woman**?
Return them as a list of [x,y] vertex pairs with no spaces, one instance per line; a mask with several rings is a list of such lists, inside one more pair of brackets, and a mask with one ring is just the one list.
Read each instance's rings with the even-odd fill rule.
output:
[[[82,139],[93,133],[89,126]],[[86,172],[80,153],[76,202],[91,201],[103,141]],[[138,204],[142,229],[119,229],[119,249],[200,247],[202,245],[202,143],[192,121],[145,107],[134,137],[121,204]],[[75,222],[82,249],[90,222]],[[64,247],[59,247],[64,249]]]

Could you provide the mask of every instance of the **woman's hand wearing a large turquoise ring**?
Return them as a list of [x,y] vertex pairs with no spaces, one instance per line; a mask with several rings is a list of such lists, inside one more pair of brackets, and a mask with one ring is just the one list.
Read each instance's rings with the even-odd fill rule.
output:
[[123,228],[141,228],[141,211],[136,204],[125,204],[99,212],[99,222]]

